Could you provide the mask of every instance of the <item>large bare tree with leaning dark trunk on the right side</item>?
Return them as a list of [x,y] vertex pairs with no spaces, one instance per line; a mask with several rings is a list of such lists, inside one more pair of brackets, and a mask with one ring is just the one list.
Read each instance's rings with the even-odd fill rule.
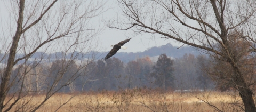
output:
[[[253,91],[239,66],[244,52],[255,52],[255,7],[253,0],[118,0],[121,14],[108,26],[131,30],[135,34],[151,33],[172,39],[209,53],[229,63],[235,71],[234,89],[242,98],[244,111],[256,111]],[[122,17],[123,16],[123,17]],[[123,18],[123,19],[118,19]],[[236,51],[228,36],[237,34],[250,49]],[[254,43],[254,44],[251,44]],[[217,45],[220,48],[217,49]],[[220,58],[221,57],[221,58]]]

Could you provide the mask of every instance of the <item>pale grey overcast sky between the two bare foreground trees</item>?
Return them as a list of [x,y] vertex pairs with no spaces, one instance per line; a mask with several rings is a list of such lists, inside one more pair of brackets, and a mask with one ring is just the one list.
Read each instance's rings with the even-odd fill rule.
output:
[[[57,2],[58,3],[58,2]],[[99,17],[93,19],[93,23],[95,25],[104,26],[102,20],[109,20],[116,16],[117,12],[120,11],[119,6],[116,4],[116,0],[109,0],[106,4],[106,7],[110,7],[106,12],[101,14]],[[4,9],[4,5],[0,4],[0,14],[1,14],[1,21],[5,15],[8,15],[8,12]],[[97,23],[98,22],[98,23]],[[118,29],[110,29],[105,26],[105,30],[99,35],[99,41],[95,44],[100,44],[101,49],[100,51],[110,51],[112,47],[110,45],[115,45],[118,42],[123,41],[126,38],[131,38],[130,42],[126,43],[124,46],[127,46],[128,49],[120,50],[118,52],[143,52],[150,47],[153,46],[161,46],[167,43],[171,43],[174,46],[178,46],[178,43],[174,43],[171,39],[161,39],[159,37],[152,38],[151,34],[144,34],[139,36],[131,36],[125,30],[118,30]]]

